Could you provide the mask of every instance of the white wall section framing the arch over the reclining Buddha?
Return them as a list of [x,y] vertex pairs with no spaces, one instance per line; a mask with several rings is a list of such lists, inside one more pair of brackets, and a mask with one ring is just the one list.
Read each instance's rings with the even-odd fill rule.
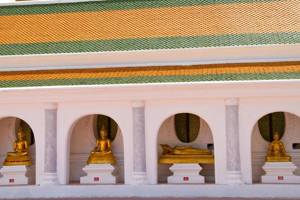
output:
[[[215,182],[221,184],[226,173],[224,99],[174,99],[145,101],[146,169],[150,184],[157,184],[159,152],[158,134],[161,124],[176,113],[189,112],[200,116],[209,125],[214,143]],[[167,168],[167,167],[166,167]],[[166,168],[163,168],[166,171]],[[166,175],[166,174],[164,174]]]

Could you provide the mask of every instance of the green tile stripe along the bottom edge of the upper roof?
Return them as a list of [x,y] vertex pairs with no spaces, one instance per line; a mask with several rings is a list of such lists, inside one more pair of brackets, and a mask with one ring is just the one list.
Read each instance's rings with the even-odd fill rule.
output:
[[221,34],[108,40],[0,44],[0,55],[99,52],[300,43],[300,32]]

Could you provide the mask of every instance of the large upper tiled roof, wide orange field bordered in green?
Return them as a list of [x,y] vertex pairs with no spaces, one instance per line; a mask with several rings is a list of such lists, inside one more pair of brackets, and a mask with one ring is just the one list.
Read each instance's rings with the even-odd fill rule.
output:
[[0,6],[0,55],[300,43],[298,0]]

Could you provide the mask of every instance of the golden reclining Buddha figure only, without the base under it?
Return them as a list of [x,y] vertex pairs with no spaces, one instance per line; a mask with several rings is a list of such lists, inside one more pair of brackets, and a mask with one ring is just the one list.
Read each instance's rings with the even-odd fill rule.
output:
[[162,149],[162,155],[211,155],[211,150],[199,149],[192,146],[174,146],[168,144],[159,144]]

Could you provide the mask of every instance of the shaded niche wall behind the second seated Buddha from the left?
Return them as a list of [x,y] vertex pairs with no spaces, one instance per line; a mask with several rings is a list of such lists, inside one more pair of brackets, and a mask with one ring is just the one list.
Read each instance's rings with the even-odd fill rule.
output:
[[[79,181],[86,173],[82,168],[86,165],[90,151],[95,147],[97,134],[97,115],[89,114],[76,120],[70,138],[69,181]],[[124,181],[124,149],[120,127],[111,142],[116,164],[120,167],[121,181]]]

